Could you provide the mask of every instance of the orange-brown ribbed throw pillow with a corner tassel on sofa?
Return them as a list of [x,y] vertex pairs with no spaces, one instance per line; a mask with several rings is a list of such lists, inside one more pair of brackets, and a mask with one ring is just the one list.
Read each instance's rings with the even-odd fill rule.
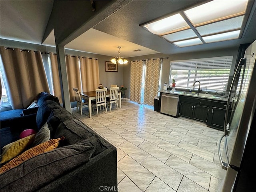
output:
[[49,141],[46,141],[44,143],[41,143],[37,146],[34,146],[33,148],[26,150],[22,154],[20,154],[18,157],[14,158],[13,160],[10,160],[8,163],[6,163],[4,166],[1,167],[0,173],[3,173],[10,168],[13,168],[22,162],[28,160],[29,158],[32,158],[36,155],[39,155],[41,153],[54,150],[58,147],[59,141],[64,140],[64,137],[58,138],[58,139],[51,139]]

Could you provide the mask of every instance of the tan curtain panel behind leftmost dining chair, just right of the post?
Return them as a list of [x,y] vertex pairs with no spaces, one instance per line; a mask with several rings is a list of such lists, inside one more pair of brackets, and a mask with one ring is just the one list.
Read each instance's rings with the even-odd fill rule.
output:
[[66,66],[68,74],[68,89],[70,94],[70,101],[74,102],[76,98],[73,87],[78,88],[78,90],[81,90],[81,78],[78,56],[66,55]]

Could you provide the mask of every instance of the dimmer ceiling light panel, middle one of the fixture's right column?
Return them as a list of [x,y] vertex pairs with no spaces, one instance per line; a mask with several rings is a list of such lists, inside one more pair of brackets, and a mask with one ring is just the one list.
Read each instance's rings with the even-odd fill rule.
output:
[[241,28],[243,20],[244,16],[235,17],[224,21],[200,26],[197,27],[196,30],[202,36],[230,30],[236,30]]

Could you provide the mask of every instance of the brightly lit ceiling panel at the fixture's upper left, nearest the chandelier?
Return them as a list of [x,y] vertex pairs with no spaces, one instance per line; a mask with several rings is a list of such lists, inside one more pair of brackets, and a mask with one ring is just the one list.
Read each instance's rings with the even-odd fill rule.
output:
[[165,35],[179,30],[190,28],[180,14],[144,25],[150,32],[156,35]]

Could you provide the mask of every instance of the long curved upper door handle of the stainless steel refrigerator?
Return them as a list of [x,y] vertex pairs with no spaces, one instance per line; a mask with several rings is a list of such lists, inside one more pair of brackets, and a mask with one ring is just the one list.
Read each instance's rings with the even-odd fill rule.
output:
[[241,71],[242,65],[244,65],[245,63],[246,63],[246,58],[241,58],[238,63],[238,66],[236,68],[236,72],[235,72],[234,78],[233,78],[231,86],[230,86],[230,90],[229,90],[229,94],[228,94],[228,102],[226,105],[225,120],[224,120],[224,134],[225,135],[229,135],[229,131],[230,131],[230,129],[227,127],[227,124],[228,124],[228,109],[230,106],[229,102],[230,102],[232,90],[233,90],[234,84],[236,82],[236,78],[238,77],[238,74]]

